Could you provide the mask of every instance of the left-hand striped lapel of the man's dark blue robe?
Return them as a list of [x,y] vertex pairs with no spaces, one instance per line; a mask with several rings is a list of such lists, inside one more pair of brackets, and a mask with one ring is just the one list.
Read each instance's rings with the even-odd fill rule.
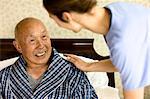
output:
[[25,65],[26,62],[21,56],[12,67],[12,73],[10,73],[10,86],[15,96],[20,98],[28,97],[31,99],[33,92],[28,81]]

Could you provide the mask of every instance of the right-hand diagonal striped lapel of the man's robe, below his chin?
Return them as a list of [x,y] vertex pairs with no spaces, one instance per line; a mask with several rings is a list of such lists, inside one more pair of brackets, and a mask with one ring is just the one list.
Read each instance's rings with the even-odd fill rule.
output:
[[70,64],[62,59],[58,52],[54,50],[48,71],[45,73],[41,84],[36,88],[34,96],[39,98],[52,94],[58,87],[62,86],[62,83],[66,80],[69,69]]

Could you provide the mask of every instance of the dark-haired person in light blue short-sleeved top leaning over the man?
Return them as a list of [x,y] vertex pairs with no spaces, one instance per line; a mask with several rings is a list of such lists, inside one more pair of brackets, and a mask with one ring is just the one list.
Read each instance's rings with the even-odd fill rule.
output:
[[124,98],[144,98],[150,85],[149,8],[124,2],[98,7],[96,0],[43,0],[43,5],[60,27],[106,37],[110,59],[86,63],[68,54],[68,61],[83,71],[119,71]]

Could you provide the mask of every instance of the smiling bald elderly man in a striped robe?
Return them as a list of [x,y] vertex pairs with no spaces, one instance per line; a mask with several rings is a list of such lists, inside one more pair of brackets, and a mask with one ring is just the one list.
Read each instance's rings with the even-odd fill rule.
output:
[[97,99],[86,75],[51,47],[40,20],[20,21],[13,44],[21,56],[0,71],[0,99]]

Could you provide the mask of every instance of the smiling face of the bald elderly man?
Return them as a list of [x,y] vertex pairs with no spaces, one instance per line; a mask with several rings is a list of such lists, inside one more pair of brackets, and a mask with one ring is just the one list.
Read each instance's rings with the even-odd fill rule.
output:
[[28,65],[46,65],[51,55],[51,42],[45,26],[39,21],[27,23],[18,36],[20,53]]

